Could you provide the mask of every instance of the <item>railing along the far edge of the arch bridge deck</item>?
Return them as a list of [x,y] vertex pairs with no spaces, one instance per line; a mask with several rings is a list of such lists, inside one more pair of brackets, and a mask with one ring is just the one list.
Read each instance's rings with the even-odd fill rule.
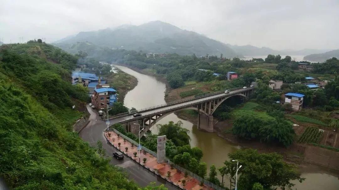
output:
[[[233,91],[233,90],[238,90],[241,89],[242,87],[237,87],[237,88],[232,88],[232,89],[228,89],[228,91]],[[130,112],[124,112],[124,113],[120,113],[120,114],[116,114],[113,117],[109,118],[109,119],[114,119],[114,118],[118,118],[118,117],[122,117],[122,116],[126,116],[126,115],[132,115],[134,113],[138,113],[138,112],[144,112],[144,111],[148,111],[148,110],[154,110],[154,109],[158,109],[158,108],[162,108],[168,105],[174,105],[174,104],[178,104],[178,103],[183,103],[186,101],[191,101],[191,100],[196,100],[196,99],[200,99],[200,98],[204,98],[204,97],[208,97],[208,96],[213,96],[216,94],[222,94],[225,91],[218,91],[218,92],[214,92],[214,93],[210,93],[210,94],[205,94],[205,95],[201,95],[201,96],[197,96],[194,98],[186,98],[186,99],[182,99],[182,100],[178,100],[178,101],[173,101],[173,102],[168,102],[168,103],[164,103],[161,105],[156,105],[156,106],[152,106],[152,107],[148,107],[148,108],[143,108],[143,109],[139,109],[139,110],[135,110],[135,111],[130,111]]]

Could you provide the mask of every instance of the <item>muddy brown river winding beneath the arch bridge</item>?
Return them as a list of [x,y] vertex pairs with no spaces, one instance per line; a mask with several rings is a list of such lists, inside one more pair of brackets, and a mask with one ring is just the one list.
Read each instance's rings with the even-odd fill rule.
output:
[[[127,108],[133,107],[136,109],[142,109],[166,103],[164,99],[166,85],[163,82],[158,81],[153,76],[138,73],[127,67],[116,67],[138,79],[138,85],[125,96],[124,104]],[[183,127],[190,130],[190,133],[188,134],[191,137],[190,144],[192,147],[197,146],[201,148],[204,153],[202,161],[207,163],[208,168],[212,164],[216,167],[222,166],[223,162],[228,160],[228,153],[235,152],[237,149],[241,148],[240,146],[233,145],[217,136],[216,133],[207,133],[198,130],[195,124],[182,120],[175,114],[166,116],[162,120],[158,121],[157,124],[165,124],[168,123],[168,121],[181,121],[183,123]],[[156,134],[157,127],[152,127],[151,131]],[[319,171],[312,171],[304,172],[302,177],[305,177],[306,180],[301,184],[299,182],[296,183],[295,187],[298,190],[339,189],[338,177],[334,175],[329,175]],[[225,185],[226,187],[229,186],[229,184],[227,184],[227,180]]]

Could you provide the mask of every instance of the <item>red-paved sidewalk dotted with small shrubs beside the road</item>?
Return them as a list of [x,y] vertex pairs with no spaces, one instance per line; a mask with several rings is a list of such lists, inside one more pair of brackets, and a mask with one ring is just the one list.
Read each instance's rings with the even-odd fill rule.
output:
[[[111,134],[110,137],[108,137],[107,132],[105,132],[105,136],[112,144],[114,144],[118,149],[120,149],[121,152],[124,152],[125,154],[131,156],[132,159],[139,162],[139,151],[137,150],[136,146],[132,147],[132,143],[128,142],[127,140],[124,142],[124,139],[122,137],[118,137],[118,135],[114,133],[113,131],[110,131],[109,133]],[[120,147],[118,146],[118,143],[121,143]],[[125,150],[125,147],[128,148],[127,151]],[[137,152],[136,157],[134,157],[133,152]],[[143,163],[144,158],[147,159],[145,164]],[[184,176],[185,174],[183,172],[180,172],[176,168],[171,169],[171,166],[165,162],[158,164],[156,157],[154,157],[153,155],[149,153],[144,154],[143,150],[140,151],[140,161],[141,161],[140,163],[141,165],[147,166],[148,168],[156,171],[163,177],[166,177],[167,179],[171,180],[173,183],[180,185],[184,189],[187,189],[187,190],[200,190],[200,189],[212,190],[213,189],[205,184],[204,186],[200,186],[200,181],[198,181],[197,179],[191,176],[185,177]],[[170,177],[167,177],[168,171],[171,172]],[[186,180],[185,186],[183,186],[182,180]]]

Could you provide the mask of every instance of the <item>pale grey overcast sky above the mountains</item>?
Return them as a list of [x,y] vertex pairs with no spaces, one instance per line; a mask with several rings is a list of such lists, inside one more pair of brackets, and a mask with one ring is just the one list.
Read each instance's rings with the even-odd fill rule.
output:
[[0,0],[5,43],[155,20],[232,45],[339,49],[339,0]]

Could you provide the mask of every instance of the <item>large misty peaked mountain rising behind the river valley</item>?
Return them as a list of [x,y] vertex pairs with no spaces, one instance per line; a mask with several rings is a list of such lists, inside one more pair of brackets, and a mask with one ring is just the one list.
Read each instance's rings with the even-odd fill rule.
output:
[[182,30],[171,24],[153,21],[139,26],[122,25],[98,31],[80,32],[55,43],[89,42],[94,45],[153,53],[193,54],[242,57],[226,44],[193,31]]

